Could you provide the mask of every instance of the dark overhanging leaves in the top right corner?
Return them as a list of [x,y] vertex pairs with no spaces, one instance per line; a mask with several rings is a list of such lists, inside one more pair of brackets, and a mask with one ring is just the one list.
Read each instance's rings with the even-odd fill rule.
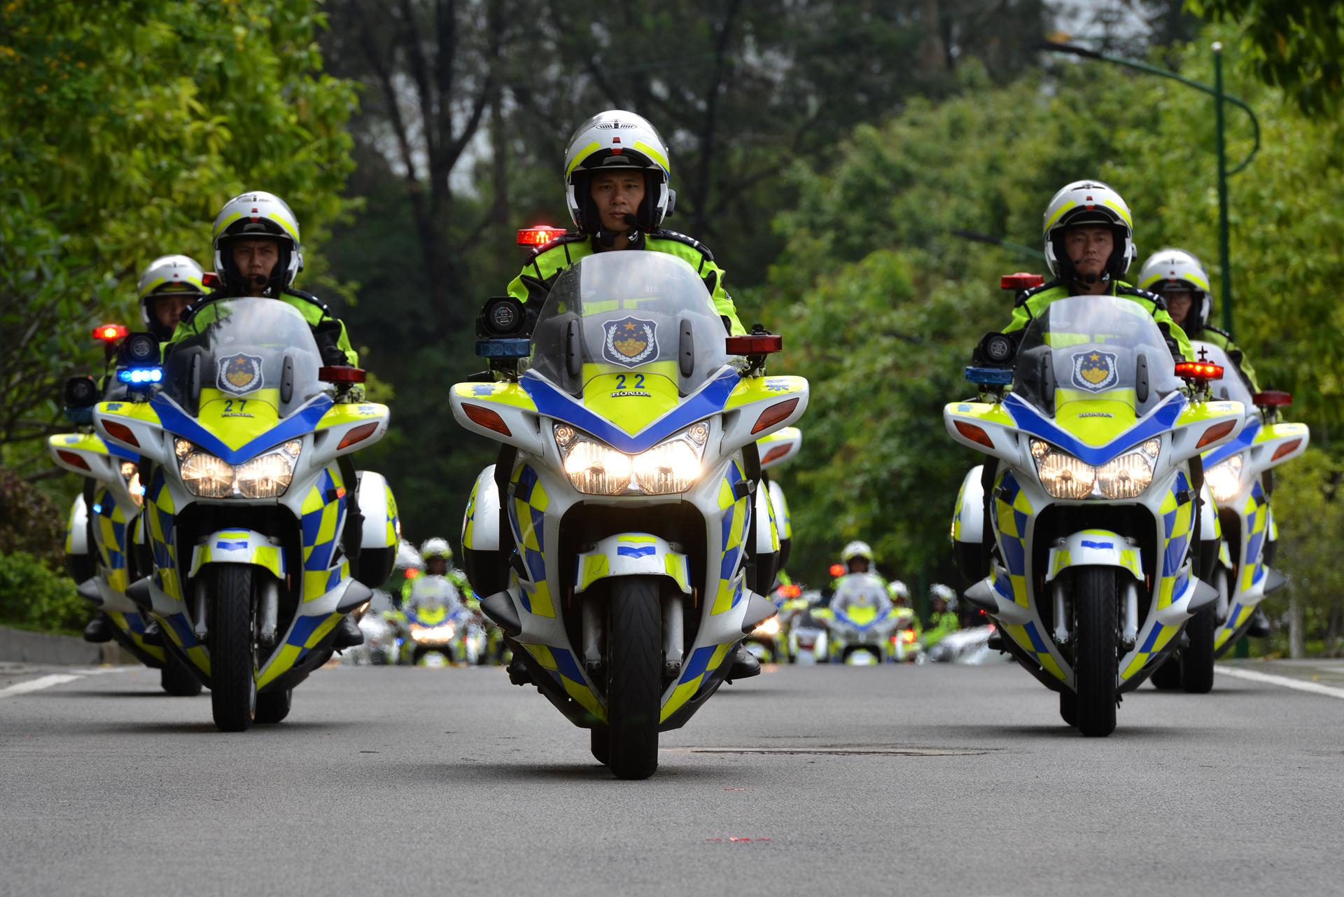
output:
[[1340,109],[1344,4],[1337,0],[1187,0],[1196,15],[1241,26],[1255,73],[1309,116]]

